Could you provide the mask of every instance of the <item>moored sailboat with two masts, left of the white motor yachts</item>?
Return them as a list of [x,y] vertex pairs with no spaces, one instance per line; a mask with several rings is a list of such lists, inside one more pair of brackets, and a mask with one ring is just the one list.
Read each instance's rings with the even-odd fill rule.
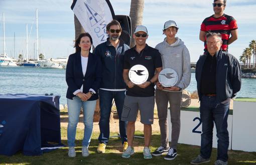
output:
[[37,28],[37,61],[29,61],[29,55],[28,55],[28,24],[26,24],[26,31],[27,31],[27,39],[26,39],[26,62],[24,62],[22,65],[23,66],[30,66],[30,67],[40,67],[40,64],[38,63],[39,61],[39,55],[38,55],[38,10],[36,9],[36,28]]

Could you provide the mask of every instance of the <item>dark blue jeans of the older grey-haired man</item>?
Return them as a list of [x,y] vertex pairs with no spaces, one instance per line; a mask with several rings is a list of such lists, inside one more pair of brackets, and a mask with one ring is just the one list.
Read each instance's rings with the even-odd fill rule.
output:
[[217,160],[227,161],[229,145],[227,117],[229,102],[217,103],[216,96],[203,95],[200,101],[200,117],[202,120],[201,150],[203,158],[210,158],[212,151],[213,122],[217,131]]

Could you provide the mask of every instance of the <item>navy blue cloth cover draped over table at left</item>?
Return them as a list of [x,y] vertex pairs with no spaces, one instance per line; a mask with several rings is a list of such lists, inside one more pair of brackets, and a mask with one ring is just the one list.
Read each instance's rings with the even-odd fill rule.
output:
[[59,95],[0,94],[0,154],[41,155],[61,143]]

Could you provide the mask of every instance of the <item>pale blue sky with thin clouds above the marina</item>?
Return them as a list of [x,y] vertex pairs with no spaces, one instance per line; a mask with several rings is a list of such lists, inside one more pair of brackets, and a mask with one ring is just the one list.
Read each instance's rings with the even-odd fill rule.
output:
[[[3,12],[5,12],[6,50],[16,57],[26,51],[26,24],[29,31],[29,56],[34,57],[36,40],[36,8],[38,8],[39,53],[46,58],[73,53],[75,38],[73,0],[0,0],[0,53],[3,54]],[[115,14],[129,15],[131,0],[110,0]],[[145,0],[143,24],[147,26],[147,43],[155,47],[163,41],[164,22],[175,20],[180,37],[190,52],[191,62],[203,53],[199,40],[200,25],[213,14],[213,0]],[[229,45],[229,52],[239,59],[245,47],[256,39],[256,0],[227,0],[224,13],[233,16],[238,25],[238,39]],[[30,32],[31,31],[31,32]],[[15,37],[14,37],[15,33]],[[14,44],[15,38],[15,44]],[[15,47],[15,51],[14,51]],[[15,52],[15,53],[14,53]]]

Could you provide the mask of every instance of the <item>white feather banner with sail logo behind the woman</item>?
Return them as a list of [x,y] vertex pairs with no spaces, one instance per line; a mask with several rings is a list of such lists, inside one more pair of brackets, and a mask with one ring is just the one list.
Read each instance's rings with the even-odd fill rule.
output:
[[71,9],[84,30],[91,35],[94,47],[106,41],[106,25],[113,20],[109,0],[74,0]]

